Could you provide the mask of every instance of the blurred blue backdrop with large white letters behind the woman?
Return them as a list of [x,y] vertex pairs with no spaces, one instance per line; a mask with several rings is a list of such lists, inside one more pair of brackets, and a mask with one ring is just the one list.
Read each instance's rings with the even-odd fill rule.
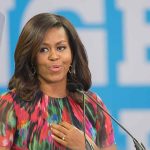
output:
[[[150,0],[0,0],[0,94],[14,71],[20,31],[40,12],[72,22],[87,49],[91,90],[150,149]],[[134,150],[131,138],[113,126],[118,150]]]

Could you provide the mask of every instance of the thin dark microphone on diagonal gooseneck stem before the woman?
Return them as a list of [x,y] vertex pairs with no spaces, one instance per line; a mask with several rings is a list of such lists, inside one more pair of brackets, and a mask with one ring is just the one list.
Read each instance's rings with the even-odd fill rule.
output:
[[[123,129],[132,138],[136,150],[146,150],[145,146],[142,143],[139,143],[138,140],[122,124],[120,124],[109,112],[107,112],[96,99],[94,99],[91,95],[89,95],[87,92],[83,90],[82,84],[69,83],[68,88],[71,92],[79,92],[80,94],[83,95],[83,97],[85,95],[88,96],[95,104],[97,104],[97,106],[103,112],[105,112],[117,125],[119,125],[121,129]],[[84,101],[84,117],[85,117],[85,98],[83,98],[83,101]],[[84,119],[84,125],[85,125],[85,119]]]

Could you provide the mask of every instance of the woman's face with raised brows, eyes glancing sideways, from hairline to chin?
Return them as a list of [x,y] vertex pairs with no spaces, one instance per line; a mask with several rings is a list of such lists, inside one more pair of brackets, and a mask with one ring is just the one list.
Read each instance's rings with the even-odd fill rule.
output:
[[71,48],[64,28],[48,30],[37,53],[37,74],[40,83],[66,84],[71,62]]

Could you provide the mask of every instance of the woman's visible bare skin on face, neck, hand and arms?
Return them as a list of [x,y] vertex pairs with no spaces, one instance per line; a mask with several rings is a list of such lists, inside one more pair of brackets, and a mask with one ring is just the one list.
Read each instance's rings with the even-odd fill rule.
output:
[[[53,28],[46,33],[36,62],[41,90],[51,97],[66,96],[67,73],[72,62],[72,54],[63,28]],[[53,139],[58,143],[72,150],[85,150],[84,134],[75,126],[67,122],[52,124],[51,131]],[[100,150],[87,135],[86,137],[94,150]],[[0,147],[0,150],[9,148]],[[112,145],[101,150],[116,150],[116,146]]]

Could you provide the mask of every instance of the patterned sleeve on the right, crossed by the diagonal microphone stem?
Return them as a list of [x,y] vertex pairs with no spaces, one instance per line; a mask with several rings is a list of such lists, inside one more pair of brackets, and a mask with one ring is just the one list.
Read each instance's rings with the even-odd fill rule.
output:
[[[102,108],[108,112],[105,104],[96,95],[97,101],[101,104]],[[102,148],[111,146],[115,143],[114,130],[111,122],[111,118],[107,115],[100,107],[97,106],[97,115],[96,115],[96,144]]]

